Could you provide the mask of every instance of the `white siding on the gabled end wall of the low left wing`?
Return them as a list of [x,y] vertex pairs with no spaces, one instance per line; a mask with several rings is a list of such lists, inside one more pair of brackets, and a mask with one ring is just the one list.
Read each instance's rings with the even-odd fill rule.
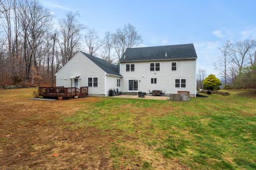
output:
[[[56,86],[71,87],[69,77],[80,76],[79,86],[88,86],[88,77],[98,78],[98,87],[89,87],[89,95],[105,95],[105,71],[100,69],[89,58],[78,52],[62,69],[57,73]],[[65,80],[66,78],[66,80]],[[74,81],[72,84],[74,87]]]

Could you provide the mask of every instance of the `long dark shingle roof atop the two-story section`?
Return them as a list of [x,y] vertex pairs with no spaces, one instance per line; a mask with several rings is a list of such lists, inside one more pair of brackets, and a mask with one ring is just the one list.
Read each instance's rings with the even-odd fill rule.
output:
[[[167,56],[165,56],[167,54]],[[125,56],[125,58],[124,58]],[[120,62],[197,58],[193,44],[127,48]]]

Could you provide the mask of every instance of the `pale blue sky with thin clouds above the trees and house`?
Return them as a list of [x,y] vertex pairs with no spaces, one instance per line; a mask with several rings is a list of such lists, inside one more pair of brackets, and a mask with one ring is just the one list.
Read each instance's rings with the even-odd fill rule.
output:
[[130,23],[142,36],[142,47],[193,43],[197,69],[207,74],[218,75],[213,63],[225,41],[256,38],[255,0],[41,2],[55,16],[55,23],[69,11],[78,12],[78,20],[101,37]]

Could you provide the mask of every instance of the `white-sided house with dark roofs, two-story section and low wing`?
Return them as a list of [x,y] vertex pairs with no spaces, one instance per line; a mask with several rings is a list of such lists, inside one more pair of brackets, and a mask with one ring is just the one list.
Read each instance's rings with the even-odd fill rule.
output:
[[91,96],[163,90],[165,94],[189,91],[196,96],[196,51],[193,44],[127,48],[119,66],[78,52],[56,75],[56,86],[88,86]]

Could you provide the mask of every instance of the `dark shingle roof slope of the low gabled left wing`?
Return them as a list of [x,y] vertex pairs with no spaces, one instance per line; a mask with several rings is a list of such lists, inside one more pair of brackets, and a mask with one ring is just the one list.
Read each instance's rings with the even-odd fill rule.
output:
[[93,63],[98,65],[106,73],[122,76],[121,74],[119,74],[119,66],[118,65],[110,64],[107,61],[102,60],[101,58],[92,56],[92,55],[84,53],[84,52],[81,52],[81,53],[83,53],[86,57],[88,57]]

